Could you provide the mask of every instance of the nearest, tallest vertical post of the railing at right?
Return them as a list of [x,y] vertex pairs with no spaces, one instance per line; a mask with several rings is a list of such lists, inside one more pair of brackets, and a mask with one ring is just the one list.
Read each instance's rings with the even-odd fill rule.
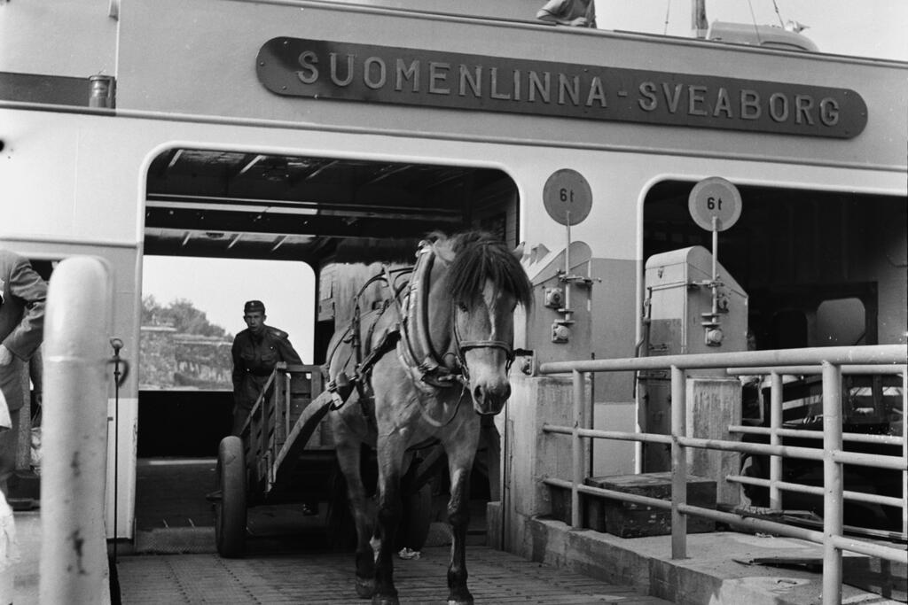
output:
[[842,370],[823,362],[823,603],[842,601],[842,551],[833,538],[843,531],[842,464],[834,454],[842,450]]

